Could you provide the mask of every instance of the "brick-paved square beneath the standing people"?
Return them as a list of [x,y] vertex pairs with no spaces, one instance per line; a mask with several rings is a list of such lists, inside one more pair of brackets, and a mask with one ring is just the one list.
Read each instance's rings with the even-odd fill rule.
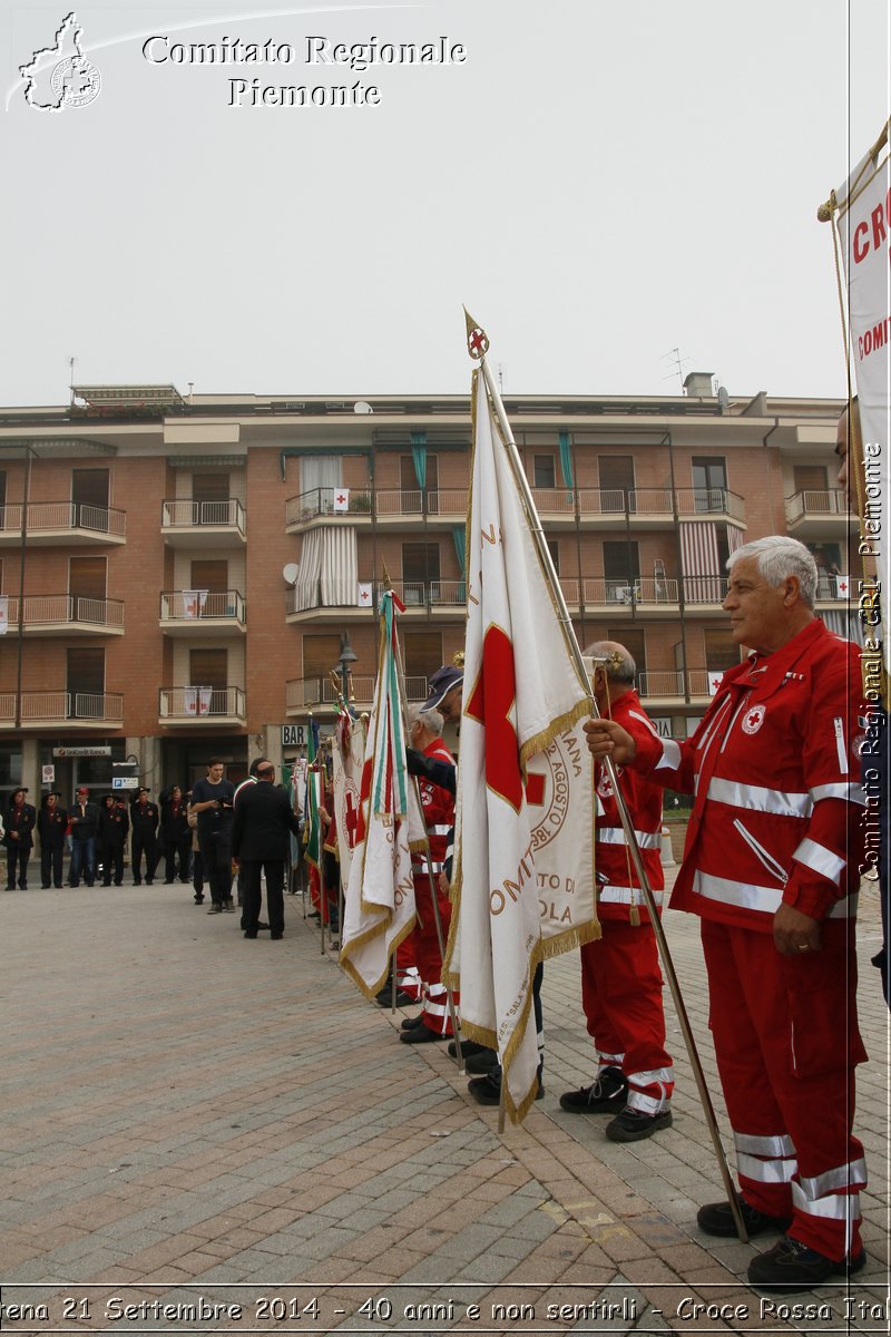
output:
[[[740,1281],[752,1246],[695,1226],[721,1187],[671,1007],[675,1127],[609,1143],[605,1119],[558,1107],[592,1063],[577,961],[549,961],[546,1095],[500,1138],[445,1046],[399,1044],[402,1015],[358,995],[299,900],[283,941],[248,943],[236,916],[176,886],[0,894],[4,1332],[888,1330],[870,892],[856,1120],[870,1265],[847,1309],[844,1288],[826,1288],[793,1302],[828,1317],[789,1321]],[[669,912],[665,925],[727,1138],[696,924]],[[48,1314],[17,1320],[16,1304]],[[696,1304],[745,1313],[691,1317]]]

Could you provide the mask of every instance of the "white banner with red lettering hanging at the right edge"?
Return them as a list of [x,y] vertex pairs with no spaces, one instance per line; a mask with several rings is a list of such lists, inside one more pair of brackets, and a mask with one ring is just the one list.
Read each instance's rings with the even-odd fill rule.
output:
[[[876,576],[855,592],[867,640],[883,643],[884,671],[891,671],[891,584],[888,515],[888,418],[891,416],[891,310],[888,263],[891,262],[891,155],[887,144],[878,166],[867,154],[836,191],[838,226],[847,274],[851,361],[860,401],[862,456],[866,496],[860,499],[860,555],[875,560]],[[854,465],[854,461],[851,461]],[[854,469],[852,469],[854,475]],[[880,620],[879,626],[879,608]],[[867,643],[867,651],[870,646]],[[878,662],[878,648],[874,651]],[[864,660],[867,695],[868,654]],[[880,674],[879,674],[880,677]]]

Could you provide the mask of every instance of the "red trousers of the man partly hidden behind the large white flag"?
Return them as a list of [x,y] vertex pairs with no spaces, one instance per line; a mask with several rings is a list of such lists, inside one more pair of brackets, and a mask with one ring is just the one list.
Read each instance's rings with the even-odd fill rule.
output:
[[663,976],[649,924],[602,921],[604,936],[581,948],[581,1004],[601,1068],[621,1068],[628,1104],[659,1114],[675,1090],[665,1050]]

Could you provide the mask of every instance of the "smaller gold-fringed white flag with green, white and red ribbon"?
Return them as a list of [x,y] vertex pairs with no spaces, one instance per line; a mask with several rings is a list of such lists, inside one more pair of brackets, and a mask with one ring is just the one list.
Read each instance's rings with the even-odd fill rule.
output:
[[383,987],[391,953],[414,928],[411,849],[426,844],[417,789],[409,783],[406,769],[397,608],[403,611],[387,590],[343,910],[341,964],[367,997]]

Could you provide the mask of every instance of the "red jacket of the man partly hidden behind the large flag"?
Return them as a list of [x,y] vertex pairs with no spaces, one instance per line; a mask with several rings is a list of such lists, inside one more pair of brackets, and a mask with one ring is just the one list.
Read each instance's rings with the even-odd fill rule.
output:
[[[627,691],[609,711],[610,719],[627,729],[635,738],[639,750],[652,753],[659,743],[656,729],[649,722],[647,711],[636,691]],[[663,861],[660,858],[663,829],[663,790],[653,781],[628,766],[617,767],[618,786],[637,836],[644,869],[655,893],[656,904],[661,904],[661,890],[665,885]],[[594,873],[597,876],[597,913],[601,920],[622,920],[628,924],[631,906],[636,905],[641,923],[649,923],[649,912],[640,890],[640,878],[631,861],[625,832],[618,817],[618,805],[613,794],[606,767],[596,770],[594,822]],[[604,881],[605,878],[605,881]]]

